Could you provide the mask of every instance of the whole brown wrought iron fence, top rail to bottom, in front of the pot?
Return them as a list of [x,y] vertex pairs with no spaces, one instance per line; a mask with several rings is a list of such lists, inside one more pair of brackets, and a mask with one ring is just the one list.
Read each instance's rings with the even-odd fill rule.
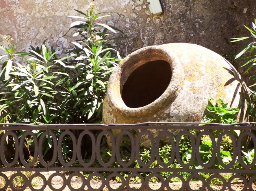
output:
[[[106,186],[118,191],[191,191],[192,181],[199,181],[198,190],[236,190],[234,184],[255,190],[254,124],[207,125],[2,124],[0,190],[38,191],[47,186],[60,191],[67,186],[72,191],[100,191]],[[49,171],[55,172],[43,173]],[[54,184],[56,177],[60,187]],[[175,181],[180,181],[178,189],[173,187]]]

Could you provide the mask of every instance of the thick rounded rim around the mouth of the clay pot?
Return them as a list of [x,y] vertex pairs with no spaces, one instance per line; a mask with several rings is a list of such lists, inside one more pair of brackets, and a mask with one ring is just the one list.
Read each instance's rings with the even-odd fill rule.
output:
[[[183,76],[182,64],[178,57],[172,54],[172,48],[174,47],[166,45],[143,47],[128,55],[115,67],[109,78],[107,88],[108,100],[111,102],[113,106],[112,109],[114,109],[115,112],[125,117],[139,117],[150,115],[171,104],[170,100],[177,95]],[[147,62],[155,60],[164,60],[171,65],[172,75],[169,85],[161,96],[146,106],[137,108],[126,106],[121,96],[122,85],[135,69]]]

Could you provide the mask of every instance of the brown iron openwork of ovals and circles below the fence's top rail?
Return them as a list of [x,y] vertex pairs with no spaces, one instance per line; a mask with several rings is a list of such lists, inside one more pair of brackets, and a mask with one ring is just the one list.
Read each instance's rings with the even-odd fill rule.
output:
[[[113,128],[119,128],[121,129],[122,126],[115,126]],[[244,176],[242,176],[243,174],[255,174],[255,169],[252,169],[252,167],[255,165],[256,163],[256,157],[253,158],[252,162],[250,164],[247,164],[243,161],[244,158],[244,153],[241,152],[241,150],[243,151],[243,145],[244,143],[242,142],[243,139],[245,137],[249,137],[252,140],[252,143],[254,145],[254,147],[256,146],[256,136],[253,133],[253,129],[250,127],[231,127],[231,126],[226,126],[226,127],[208,127],[204,130],[202,130],[202,132],[199,132],[198,136],[194,136],[192,133],[189,132],[190,129],[193,129],[193,127],[189,127],[186,128],[187,126],[177,126],[177,129],[182,129],[184,127],[184,131],[180,131],[178,133],[178,135],[173,135],[173,133],[171,133],[169,131],[169,129],[175,129],[176,126],[148,126],[148,127],[144,127],[144,126],[136,126],[137,129],[139,129],[140,133],[133,135],[132,133],[130,133],[130,130],[132,128],[135,128],[134,126],[131,126],[129,128],[124,128],[123,131],[121,131],[121,133],[119,133],[119,135],[117,135],[117,137],[113,136],[113,134],[111,133],[111,131],[109,130],[109,128],[104,129],[105,127],[101,127],[102,128],[102,132],[99,135],[93,135],[93,133],[91,133],[91,130],[94,129],[95,127],[91,128],[90,127],[85,127],[85,129],[83,129],[82,133],[80,133],[80,135],[78,136],[78,139],[76,140],[76,137],[74,136],[74,134],[72,133],[72,131],[70,131],[67,128],[60,129],[61,132],[60,135],[58,135],[58,137],[56,136],[56,127],[54,126],[54,128],[51,127],[41,127],[40,130],[43,131],[43,133],[39,136],[36,137],[36,135],[33,133],[34,131],[31,131],[31,127],[23,127],[22,126],[22,130],[25,129],[25,133],[20,136],[20,138],[18,138],[17,134],[15,133],[18,130],[15,130],[15,128],[11,128],[8,129],[4,132],[4,135],[2,135],[2,138],[0,140],[0,157],[1,157],[1,162],[3,163],[1,167],[1,171],[17,171],[18,173],[15,175],[12,175],[10,180],[8,180],[8,177],[6,176],[6,174],[1,173],[0,172],[0,178],[2,178],[6,184],[2,184],[2,188],[0,188],[0,191],[2,190],[6,190],[8,186],[10,186],[10,188],[14,191],[18,190],[18,191],[22,191],[24,189],[26,189],[27,186],[30,187],[30,189],[32,191],[38,191],[38,190],[43,190],[45,189],[46,185],[48,184],[48,186],[50,187],[50,189],[54,190],[54,191],[60,191],[63,188],[65,188],[65,186],[68,186],[70,190],[82,190],[84,187],[88,187],[89,190],[95,190],[95,191],[100,191],[104,188],[104,186],[107,186],[108,188],[111,189],[111,185],[109,184],[109,180],[111,180],[114,176],[117,176],[121,179],[121,187],[117,188],[116,190],[121,190],[122,188],[124,188],[124,186],[126,186],[128,189],[134,189],[132,187],[130,187],[129,185],[129,181],[131,180],[132,177],[138,176],[141,179],[141,187],[138,188],[138,191],[142,191],[143,188],[146,186],[148,188],[148,190],[154,190],[153,188],[151,189],[149,187],[149,180],[150,177],[156,176],[157,178],[159,178],[160,182],[161,182],[161,186],[160,189],[163,189],[163,187],[166,187],[167,190],[171,190],[173,191],[172,187],[169,185],[169,182],[171,180],[171,178],[173,177],[178,177],[180,178],[180,180],[182,181],[182,186],[179,190],[184,189],[185,187],[187,187],[187,189],[193,190],[189,187],[189,180],[193,179],[193,178],[200,178],[200,180],[202,180],[202,188],[200,188],[199,190],[202,190],[204,188],[207,188],[209,191],[213,190],[213,188],[211,188],[210,182],[211,180],[213,180],[214,178],[219,178],[219,180],[221,180],[223,182],[223,187],[220,189],[221,191],[223,191],[226,187],[228,187],[229,190],[232,191],[232,187],[231,187],[231,182],[232,180],[234,180],[234,178],[240,178],[245,186],[243,188],[243,191],[245,191],[247,189],[247,187],[249,187],[249,190],[253,190],[252,188],[252,183],[254,180],[256,180],[256,176],[252,176],[247,182],[247,180],[245,180]],[[8,127],[7,127],[8,128]],[[221,130],[222,132],[219,134],[218,136],[218,140],[217,142],[215,142],[215,138],[212,135],[212,131],[211,130],[218,130],[218,129],[224,129]],[[72,128],[71,128],[72,129]],[[74,128],[73,128],[74,129]],[[152,133],[152,129],[157,129],[159,130],[158,135]],[[242,133],[240,135],[235,135],[233,133],[233,131],[235,130],[241,130]],[[154,134],[154,135],[153,135]],[[43,160],[43,144],[44,143],[44,138],[46,137],[46,135],[50,136],[53,142],[53,155],[52,158],[50,159],[49,162],[44,161]],[[91,138],[91,144],[92,144],[92,155],[89,156],[90,161],[89,162],[85,162],[84,159],[82,158],[82,154],[81,154],[81,145],[83,144],[82,140],[84,138],[84,136],[89,136],[89,138]],[[111,142],[112,142],[112,148],[111,148],[111,158],[109,159],[108,162],[103,162],[101,159],[101,142],[102,139],[104,138],[104,136],[107,135],[109,136]],[[188,149],[192,149],[192,157],[190,159],[190,161],[187,164],[184,164],[182,162],[182,160],[180,159],[180,153],[179,153],[179,144],[180,144],[180,139],[182,138],[182,136],[188,136],[191,140],[191,148]],[[211,160],[207,163],[204,163],[202,161],[202,158],[200,158],[200,145],[201,145],[201,138],[207,135],[210,137],[211,139],[211,143],[212,143],[212,156],[211,156]],[[221,141],[223,136],[228,135],[230,136],[230,145],[233,145],[233,157],[232,157],[232,162],[230,162],[229,164],[224,164],[221,158],[221,153],[220,153],[220,146],[221,146]],[[6,146],[6,138],[8,136],[11,136],[11,139],[14,140],[14,147],[15,147],[15,152],[12,153],[13,158],[7,162],[7,156],[4,156],[4,149]],[[33,155],[33,161],[32,162],[27,162],[27,160],[24,159],[24,141],[25,138],[31,136],[33,137],[34,140],[34,153],[32,153]],[[65,162],[64,160],[61,161],[62,163],[62,167],[55,167],[55,163],[58,161],[59,158],[61,158],[60,156],[62,156],[61,153],[61,144],[63,141],[63,137],[64,136],[70,136],[70,138],[72,139],[72,141],[70,142],[70,146],[71,148],[73,147],[73,155],[72,155],[72,159],[70,162]],[[130,153],[131,156],[128,160],[128,162],[123,162],[122,158],[120,156],[120,144],[122,142],[122,139],[124,136],[127,136],[128,139],[130,139]],[[143,136],[148,136],[148,140],[151,142],[151,156],[148,158],[149,162],[147,163],[143,163],[142,160],[140,159],[140,147],[141,147],[141,142],[143,140]],[[161,147],[161,141],[165,138],[163,136],[166,136],[166,138],[169,140],[169,145],[171,146],[170,151],[169,151],[169,162],[167,162],[166,164],[161,160],[161,156],[159,153],[159,147]],[[9,137],[10,138],[10,137]],[[255,155],[256,151],[254,151],[254,155]],[[35,164],[35,160],[37,160],[37,157],[39,157],[39,163],[40,163],[40,167],[35,166],[35,168],[33,167],[33,165]],[[136,158],[135,158],[136,157]],[[178,164],[180,164],[182,167],[181,168],[176,168],[174,166],[172,166],[172,164],[174,164],[174,159],[177,158]],[[237,161],[238,158],[238,161]],[[138,160],[139,166],[136,168],[132,168],[130,167],[132,162],[134,160]],[[25,167],[17,167],[17,161],[21,162],[21,164]],[[158,162],[158,167],[161,166],[163,168],[151,168],[152,162],[154,161]],[[98,161],[99,164],[101,166],[95,167],[92,166],[93,162]],[[193,165],[195,164],[195,162],[198,162],[198,165],[202,166],[203,169],[196,169],[193,167]],[[115,162],[117,162],[118,164],[120,164],[120,166],[118,167],[112,167],[111,165],[114,164]],[[214,164],[214,162],[219,162],[219,164],[223,167],[222,169],[212,169],[211,166]],[[221,163],[222,162],[222,163]],[[242,167],[244,167],[243,169],[233,169],[233,164],[234,162],[239,162],[241,164]],[[176,162],[175,162],[176,163]],[[73,166],[73,164],[80,164],[80,167],[77,166]],[[170,167],[171,165],[171,167]],[[192,167],[192,168],[191,168]],[[56,173],[54,173],[53,175],[51,175],[48,178],[48,181],[46,180],[45,176],[43,176],[42,174],[40,174],[40,171],[48,171],[49,170],[53,170],[56,171]],[[73,170],[74,169],[74,170]],[[36,171],[36,173],[34,173],[30,178],[26,178],[26,176],[24,176],[22,173],[22,171]],[[65,176],[61,173],[59,173],[60,171],[74,171],[75,173],[72,173],[69,175],[69,178],[65,178]],[[79,171],[90,171],[91,174],[89,175],[89,177],[87,179],[85,179],[83,177],[83,175],[81,175],[79,173]],[[102,172],[102,171],[106,171],[106,172],[110,172],[112,173],[111,175],[109,175],[107,178],[105,178],[103,175],[101,175],[98,172]],[[122,178],[122,176],[120,175],[119,172],[124,171],[124,172],[131,172],[130,175],[128,175],[128,177],[126,178],[126,180],[124,180]],[[162,171],[162,172],[173,172],[172,175],[170,175],[169,177],[166,178],[166,180],[164,181],[163,177],[160,176],[158,173]],[[141,172],[152,172],[153,174],[150,174],[148,176],[148,178],[143,178],[141,175],[139,175],[139,173]],[[180,175],[180,173],[182,172],[189,172],[189,173],[193,173],[193,175],[189,176],[188,180],[185,181],[184,178]],[[212,173],[212,175],[210,176],[210,178],[208,178],[208,180],[205,180],[204,178],[202,178],[202,176],[198,175],[198,173]],[[219,175],[219,173],[234,173],[235,175],[232,176],[227,182],[224,180],[223,176]],[[194,176],[195,175],[195,176]],[[21,178],[24,179],[25,184],[22,186],[22,188],[15,188],[13,186],[13,180],[15,179],[15,177],[20,176]],[[43,185],[40,189],[35,189],[34,187],[32,187],[32,180],[34,177],[40,177],[43,180]],[[52,178],[54,178],[55,176],[60,176],[63,179],[63,185],[61,188],[54,188],[52,182]],[[73,188],[71,185],[71,179],[74,176],[79,176],[80,178],[82,178],[82,183],[80,184],[81,187],[75,189]],[[90,185],[90,180],[93,179],[93,176],[99,176],[99,178],[102,180],[102,184],[98,185],[100,187],[93,189],[92,185]],[[241,183],[241,182],[240,182]],[[79,186],[80,186],[79,185]],[[113,190],[113,189],[112,189]]]

